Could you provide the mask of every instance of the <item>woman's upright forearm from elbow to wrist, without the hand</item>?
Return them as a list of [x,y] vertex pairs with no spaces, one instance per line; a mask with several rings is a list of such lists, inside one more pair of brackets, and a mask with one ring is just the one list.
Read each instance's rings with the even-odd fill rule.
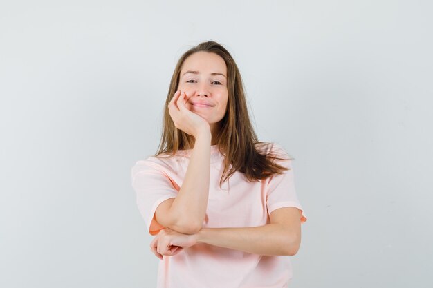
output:
[[189,227],[192,233],[201,229],[208,208],[211,141],[210,130],[197,135],[181,189],[170,208],[176,225]]

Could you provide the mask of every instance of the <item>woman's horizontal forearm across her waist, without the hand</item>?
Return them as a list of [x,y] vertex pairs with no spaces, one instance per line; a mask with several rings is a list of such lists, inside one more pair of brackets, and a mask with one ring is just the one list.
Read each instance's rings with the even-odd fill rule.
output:
[[259,255],[295,255],[300,236],[281,224],[259,227],[202,228],[196,241]]

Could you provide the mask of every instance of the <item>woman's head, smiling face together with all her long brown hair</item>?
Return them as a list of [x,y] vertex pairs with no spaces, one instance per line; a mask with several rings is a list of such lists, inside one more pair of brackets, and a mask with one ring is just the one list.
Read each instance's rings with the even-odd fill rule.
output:
[[[241,73],[228,50],[215,41],[190,48],[178,60],[165,101],[163,135],[156,156],[174,155],[177,150],[194,146],[194,137],[174,126],[167,108],[178,89],[187,93],[190,111],[208,120],[212,142],[219,144],[225,155],[221,182],[237,170],[245,173],[248,180],[264,179],[281,170],[280,166],[271,164],[266,155],[257,152],[259,142],[248,115]],[[214,106],[194,107],[194,103],[200,101]]]

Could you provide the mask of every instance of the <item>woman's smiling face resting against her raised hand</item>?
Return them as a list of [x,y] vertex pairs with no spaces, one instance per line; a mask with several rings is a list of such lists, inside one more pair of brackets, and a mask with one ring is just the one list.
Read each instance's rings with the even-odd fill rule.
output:
[[214,124],[223,119],[228,102],[227,66],[212,52],[195,52],[185,59],[178,89],[185,91],[187,108]]

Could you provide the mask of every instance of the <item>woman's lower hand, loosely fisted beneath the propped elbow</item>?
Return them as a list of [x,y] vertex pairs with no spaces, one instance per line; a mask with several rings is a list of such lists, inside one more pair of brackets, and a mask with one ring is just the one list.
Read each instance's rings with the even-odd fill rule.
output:
[[156,257],[163,260],[163,255],[174,256],[183,251],[183,248],[192,247],[196,243],[196,234],[183,234],[164,228],[151,241],[150,249]]

